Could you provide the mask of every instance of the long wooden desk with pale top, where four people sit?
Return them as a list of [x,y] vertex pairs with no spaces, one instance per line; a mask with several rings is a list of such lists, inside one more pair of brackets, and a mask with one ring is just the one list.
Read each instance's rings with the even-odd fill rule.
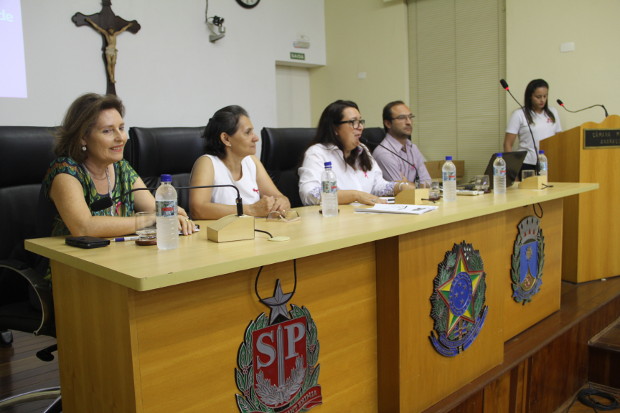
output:
[[[562,198],[596,188],[510,188],[420,216],[341,206],[337,218],[306,207],[299,222],[256,219],[287,242],[257,233],[217,244],[204,229],[170,251],[28,240],[52,262],[63,411],[237,411],[237,352],[249,322],[269,313],[254,292],[258,268],[258,291],[270,297],[276,279],[293,290],[293,260],[290,303],[310,311],[320,343],[323,405],[313,411],[420,411],[501,363],[507,339],[559,308]],[[510,297],[510,257],[534,204],[544,211],[544,283],[522,305]],[[484,260],[489,311],[473,345],[448,358],[429,343],[429,298],[438,263],[461,241]]]

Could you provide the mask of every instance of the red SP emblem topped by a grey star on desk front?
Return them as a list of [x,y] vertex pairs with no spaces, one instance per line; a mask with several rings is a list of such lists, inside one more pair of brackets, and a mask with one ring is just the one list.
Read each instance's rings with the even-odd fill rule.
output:
[[260,314],[245,330],[235,369],[241,413],[297,413],[322,403],[316,326],[305,307],[286,310],[292,295],[277,280],[273,297],[260,300],[270,316]]

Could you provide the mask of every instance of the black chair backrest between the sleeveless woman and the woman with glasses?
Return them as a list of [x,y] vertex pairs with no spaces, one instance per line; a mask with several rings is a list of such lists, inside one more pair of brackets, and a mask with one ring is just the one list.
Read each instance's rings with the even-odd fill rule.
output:
[[316,135],[316,128],[263,128],[260,160],[274,184],[291,202],[302,206],[299,175],[304,152]]

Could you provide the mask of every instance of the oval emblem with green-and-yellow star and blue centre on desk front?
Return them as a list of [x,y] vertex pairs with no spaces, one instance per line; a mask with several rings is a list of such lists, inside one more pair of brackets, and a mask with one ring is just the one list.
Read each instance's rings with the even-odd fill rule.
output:
[[433,284],[434,331],[429,339],[439,354],[454,357],[474,342],[487,315],[486,273],[479,252],[465,241],[454,244]]

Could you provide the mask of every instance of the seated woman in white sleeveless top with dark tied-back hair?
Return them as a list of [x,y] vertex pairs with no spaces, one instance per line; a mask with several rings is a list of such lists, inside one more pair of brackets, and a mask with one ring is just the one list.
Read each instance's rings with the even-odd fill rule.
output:
[[[285,211],[291,204],[276,188],[263,164],[256,158],[258,136],[247,112],[227,106],[209,119],[203,137],[206,152],[192,168],[191,186],[234,185],[243,200],[243,213],[267,216]],[[231,187],[192,189],[190,211],[193,219],[218,219],[235,214],[237,191]]]

